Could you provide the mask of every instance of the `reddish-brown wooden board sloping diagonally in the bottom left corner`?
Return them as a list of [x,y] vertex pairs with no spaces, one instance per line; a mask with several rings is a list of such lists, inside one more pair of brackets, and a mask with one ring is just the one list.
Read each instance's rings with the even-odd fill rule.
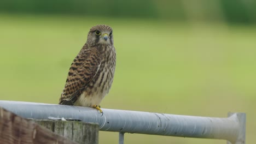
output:
[[0,107],[0,143],[5,144],[75,144],[38,124]]

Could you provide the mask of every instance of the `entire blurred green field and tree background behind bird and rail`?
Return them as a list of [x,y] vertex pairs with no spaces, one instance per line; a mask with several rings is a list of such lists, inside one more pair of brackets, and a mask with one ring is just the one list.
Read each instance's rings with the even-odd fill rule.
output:
[[[0,99],[57,104],[90,27],[112,26],[117,69],[101,106],[226,117],[256,141],[256,2],[0,1]],[[100,133],[118,143],[118,133]],[[125,143],[226,143],[126,134]]]

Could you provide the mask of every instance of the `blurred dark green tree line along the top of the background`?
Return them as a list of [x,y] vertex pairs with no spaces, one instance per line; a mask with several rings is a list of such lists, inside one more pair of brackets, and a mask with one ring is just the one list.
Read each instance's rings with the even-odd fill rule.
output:
[[171,21],[255,23],[250,0],[1,0],[0,13],[137,17]]

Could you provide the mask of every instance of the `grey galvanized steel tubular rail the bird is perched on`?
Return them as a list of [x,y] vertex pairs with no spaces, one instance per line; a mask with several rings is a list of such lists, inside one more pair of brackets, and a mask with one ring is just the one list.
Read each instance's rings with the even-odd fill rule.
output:
[[232,144],[245,143],[245,113],[229,113],[228,118],[216,118],[102,109],[102,116],[90,107],[4,100],[0,100],[0,106],[24,118],[63,117],[98,123],[102,131],[119,132],[119,143],[124,143],[124,133],[223,139]]

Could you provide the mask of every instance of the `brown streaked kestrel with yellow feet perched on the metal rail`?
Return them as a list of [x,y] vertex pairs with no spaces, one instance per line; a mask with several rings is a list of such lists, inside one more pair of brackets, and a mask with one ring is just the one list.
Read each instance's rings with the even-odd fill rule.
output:
[[109,92],[115,72],[113,42],[111,27],[98,25],[90,29],[69,68],[59,104],[94,107],[103,114],[100,103]]

